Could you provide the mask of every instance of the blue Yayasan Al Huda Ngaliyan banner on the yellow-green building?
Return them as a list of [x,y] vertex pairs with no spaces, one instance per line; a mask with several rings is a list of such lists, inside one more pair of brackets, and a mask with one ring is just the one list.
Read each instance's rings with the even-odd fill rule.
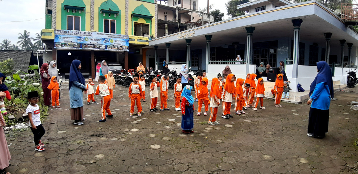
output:
[[56,49],[129,51],[128,35],[55,30]]

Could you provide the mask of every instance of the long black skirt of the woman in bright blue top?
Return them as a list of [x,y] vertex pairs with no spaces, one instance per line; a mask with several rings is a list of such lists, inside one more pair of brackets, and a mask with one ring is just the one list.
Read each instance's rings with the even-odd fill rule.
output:
[[328,118],[329,109],[310,108],[307,133],[311,133],[313,136],[324,136],[328,132]]

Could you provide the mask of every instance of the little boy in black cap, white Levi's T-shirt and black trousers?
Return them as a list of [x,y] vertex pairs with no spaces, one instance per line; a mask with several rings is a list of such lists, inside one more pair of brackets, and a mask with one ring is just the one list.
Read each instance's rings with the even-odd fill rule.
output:
[[40,107],[37,104],[39,102],[39,94],[37,91],[31,91],[27,94],[27,99],[30,104],[26,108],[26,113],[29,116],[29,126],[34,134],[35,150],[43,151],[45,150],[45,144],[40,139],[46,131],[40,121]]

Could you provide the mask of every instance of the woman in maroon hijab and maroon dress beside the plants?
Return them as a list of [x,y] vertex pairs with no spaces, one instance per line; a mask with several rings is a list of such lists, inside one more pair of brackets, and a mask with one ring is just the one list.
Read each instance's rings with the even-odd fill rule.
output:
[[44,63],[40,69],[42,90],[44,91],[44,103],[46,106],[51,105],[51,90],[47,89],[50,84],[51,76],[48,74],[48,64]]

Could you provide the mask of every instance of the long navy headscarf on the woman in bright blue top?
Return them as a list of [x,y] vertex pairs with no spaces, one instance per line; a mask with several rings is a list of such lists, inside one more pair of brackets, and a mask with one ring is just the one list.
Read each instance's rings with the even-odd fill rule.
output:
[[329,93],[331,94],[331,98],[333,98],[333,80],[331,68],[329,67],[328,63],[326,63],[326,61],[319,61],[317,63],[317,69],[318,74],[311,83],[309,96],[311,96],[317,84],[324,82],[324,85],[328,85]]

